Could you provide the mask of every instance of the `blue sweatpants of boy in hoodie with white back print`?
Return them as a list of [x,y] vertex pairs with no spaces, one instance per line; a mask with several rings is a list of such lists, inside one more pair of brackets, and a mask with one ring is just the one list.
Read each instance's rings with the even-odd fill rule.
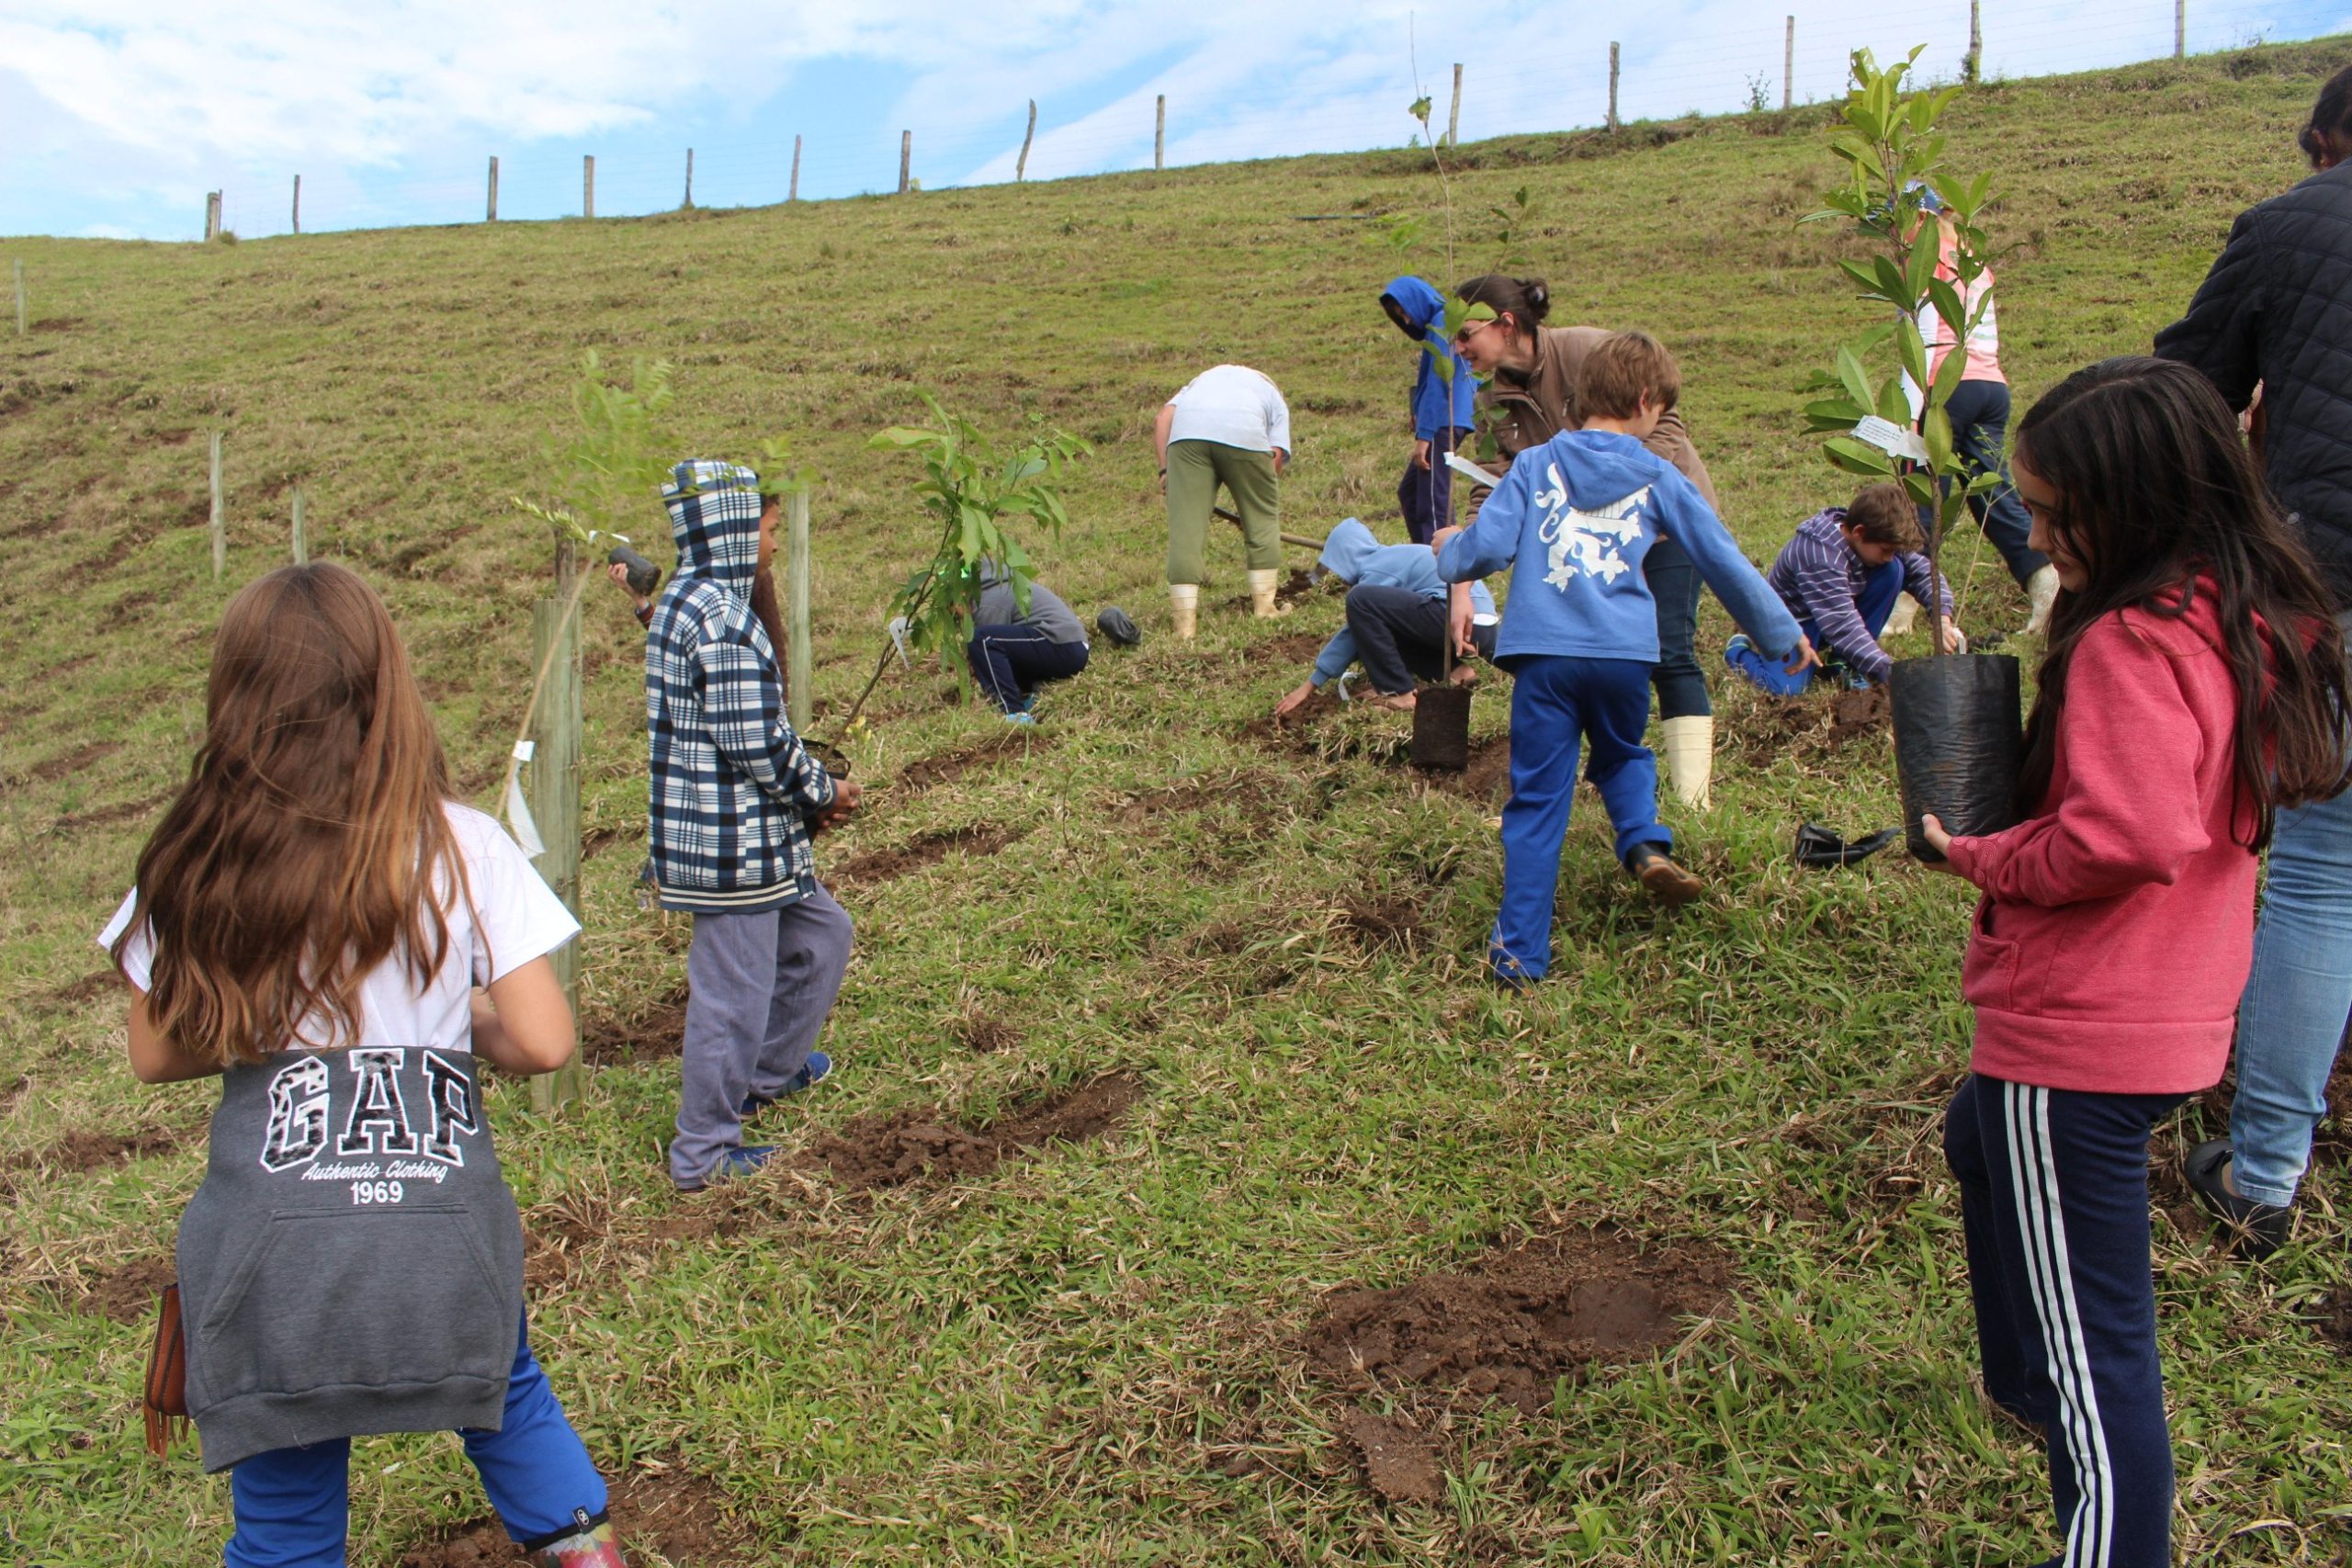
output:
[[1658,825],[1658,762],[1649,729],[1649,665],[1639,658],[1522,654],[1510,661],[1510,804],[1503,806],[1503,907],[1486,961],[1508,980],[1552,969],[1559,839],[1576,799],[1576,750],[1616,827],[1618,860],[1675,842]]

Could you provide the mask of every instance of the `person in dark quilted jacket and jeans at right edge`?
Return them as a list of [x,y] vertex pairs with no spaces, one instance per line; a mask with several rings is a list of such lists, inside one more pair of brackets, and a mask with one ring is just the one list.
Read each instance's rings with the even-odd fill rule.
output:
[[[2201,369],[2253,435],[2352,623],[2352,68],[2319,92],[2300,146],[2314,174],[2244,212],[2157,355]],[[2230,1135],[2190,1154],[2190,1182],[2265,1258],[2286,1241],[2312,1128],[2352,1013],[2352,795],[2279,813],[2253,973],[2237,1011]]]

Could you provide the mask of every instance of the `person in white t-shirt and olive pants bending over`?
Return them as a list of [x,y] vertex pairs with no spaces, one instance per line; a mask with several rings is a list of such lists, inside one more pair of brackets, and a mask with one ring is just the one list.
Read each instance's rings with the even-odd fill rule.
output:
[[1282,574],[1275,484],[1291,461],[1291,409],[1282,390],[1247,364],[1204,369],[1160,409],[1157,444],[1160,487],[1169,498],[1169,614],[1176,635],[1190,637],[1200,621],[1218,484],[1242,515],[1249,604],[1261,616],[1282,614],[1275,607]]

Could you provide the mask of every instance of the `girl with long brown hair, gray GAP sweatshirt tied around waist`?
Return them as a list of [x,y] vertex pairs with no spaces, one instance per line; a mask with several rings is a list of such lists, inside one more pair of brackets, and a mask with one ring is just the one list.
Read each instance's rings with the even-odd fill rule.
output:
[[[179,1227],[188,1413],[228,1568],[343,1563],[350,1439],[456,1429],[541,1568],[621,1563],[532,1356],[473,1060],[548,1072],[579,922],[449,797],[383,602],[334,564],[230,599],[205,743],[101,938],[141,1081],[221,1077]],[[487,997],[482,990],[487,987]]]

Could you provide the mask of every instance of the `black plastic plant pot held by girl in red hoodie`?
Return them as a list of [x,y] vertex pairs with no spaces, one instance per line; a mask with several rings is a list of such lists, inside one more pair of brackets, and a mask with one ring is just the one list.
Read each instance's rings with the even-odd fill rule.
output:
[[1912,858],[1943,860],[1919,835],[1926,813],[1952,835],[1999,832],[2018,820],[2020,689],[2018,661],[2009,654],[1896,661],[1886,696],[1903,785],[1903,842]]

